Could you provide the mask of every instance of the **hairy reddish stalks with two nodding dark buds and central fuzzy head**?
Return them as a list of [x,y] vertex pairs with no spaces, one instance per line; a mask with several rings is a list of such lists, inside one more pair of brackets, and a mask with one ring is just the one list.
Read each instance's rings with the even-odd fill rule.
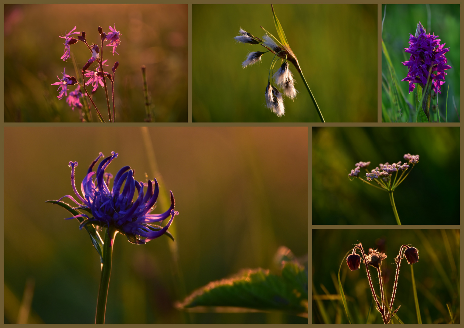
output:
[[[406,247],[406,250],[402,254],[402,251],[405,247]],[[401,259],[404,257],[408,259],[408,257],[410,257],[411,259],[413,258],[415,262],[413,260],[412,262],[410,262],[408,259],[408,264],[417,263],[419,261],[419,255],[418,255],[419,253],[417,249],[414,247],[410,247],[408,245],[401,245],[400,253],[398,254],[397,257],[394,258],[395,263],[396,263],[396,274],[395,274],[395,280],[393,284],[392,299],[390,301],[390,305],[388,305],[388,300],[383,290],[382,275],[380,271],[380,266],[382,265],[382,261],[387,258],[387,255],[377,250],[374,250],[372,248],[369,248],[368,255],[366,255],[364,252],[364,249],[362,248],[362,244],[361,243],[356,244],[353,248],[353,253],[347,257],[348,268],[352,271],[359,269],[360,256],[356,254],[356,250],[358,249],[361,250],[362,260],[363,260],[363,263],[366,265],[367,280],[369,282],[369,286],[372,291],[372,297],[374,297],[377,310],[382,315],[383,322],[387,324],[392,319],[392,316],[395,315],[396,312],[400,309],[400,307],[398,307],[398,309],[393,310],[393,301],[395,299],[397,285],[398,285],[398,277],[400,274]],[[377,299],[377,295],[375,294],[374,285],[372,283],[371,275],[369,272],[369,265],[377,269],[377,273],[379,276],[379,284],[380,284],[381,302],[379,302],[379,300]]]

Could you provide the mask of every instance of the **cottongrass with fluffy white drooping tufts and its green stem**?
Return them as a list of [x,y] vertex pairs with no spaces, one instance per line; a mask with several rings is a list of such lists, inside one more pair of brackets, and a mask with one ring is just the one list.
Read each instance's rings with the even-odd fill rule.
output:
[[[246,32],[242,28],[239,30],[239,35],[236,36],[234,39],[237,40],[240,43],[245,43],[249,45],[262,45],[264,48],[266,48],[268,51],[254,51],[250,52],[245,59],[245,61],[242,63],[242,66],[245,68],[248,65],[252,65],[255,63],[258,63],[261,61],[261,57],[265,52],[272,52],[274,53],[274,57],[279,57],[283,59],[282,66],[279,70],[276,71],[276,73],[273,75],[273,79],[276,82],[276,85],[281,88],[282,93],[277,90],[277,92],[274,92],[277,96],[284,96],[289,97],[290,99],[295,99],[296,94],[298,91],[295,89],[295,79],[293,77],[293,73],[289,70],[288,68],[288,62],[292,63],[296,71],[300,74],[301,78],[303,79],[303,83],[308,90],[309,96],[311,97],[311,100],[314,103],[314,106],[316,107],[317,114],[319,115],[319,118],[321,119],[321,122],[325,122],[324,118],[322,116],[321,110],[319,109],[319,106],[317,105],[316,99],[314,98],[313,93],[309,89],[309,85],[306,82],[306,79],[303,76],[303,71],[300,68],[300,65],[298,63],[298,60],[296,59],[296,55],[293,53],[293,51],[290,48],[290,45],[287,42],[287,39],[285,38],[284,31],[282,29],[282,26],[280,26],[280,22],[277,19],[277,16],[274,12],[274,7],[271,5],[272,8],[272,14],[274,16],[274,22],[276,25],[277,33],[279,35],[280,41],[277,40],[271,33],[267,32],[264,27],[261,26],[261,28],[266,32],[262,39],[259,39],[252,35],[251,33]],[[272,60],[271,64],[271,69],[270,69],[270,75],[271,71],[273,69],[274,65],[274,59]],[[269,79],[268,79],[268,85],[269,85]],[[276,110],[276,106],[274,106],[274,102],[272,102],[271,94],[273,93],[274,86],[271,83],[271,89],[268,90],[269,88],[266,87],[266,92],[265,92],[265,98],[266,98],[266,107],[271,109],[277,116],[282,116],[284,115],[284,104],[279,107],[279,110]]]

